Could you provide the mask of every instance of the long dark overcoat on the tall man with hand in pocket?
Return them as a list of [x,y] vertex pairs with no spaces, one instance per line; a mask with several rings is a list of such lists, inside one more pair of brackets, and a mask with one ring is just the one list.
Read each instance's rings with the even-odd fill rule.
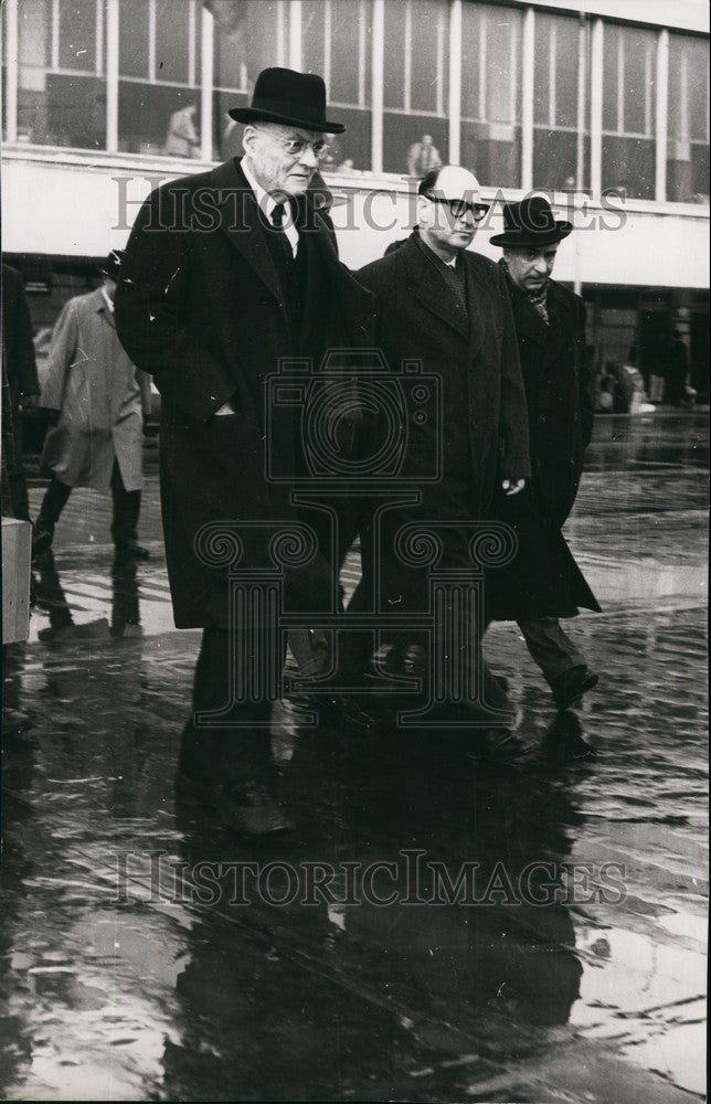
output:
[[[325,348],[371,346],[372,297],[338,261],[328,217],[307,200],[299,220],[326,274],[325,294],[306,289],[303,333],[318,328]],[[263,396],[267,376],[298,344],[236,160],[151,193],[128,242],[116,319],[129,355],[162,397],[161,500],[176,624],[221,623],[226,569],[206,566],[194,539],[210,522],[290,517],[288,496],[266,470],[273,442]],[[227,401],[235,413],[215,417]],[[277,444],[286,469],[288,443]],[[243,563],[266,564],[259,542],[245,555]]]

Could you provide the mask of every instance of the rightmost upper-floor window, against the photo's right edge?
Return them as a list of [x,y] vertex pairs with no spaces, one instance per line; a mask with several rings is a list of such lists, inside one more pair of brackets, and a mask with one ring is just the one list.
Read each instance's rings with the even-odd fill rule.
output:
[[709,202],[709,45],[669,36],[667,198]]

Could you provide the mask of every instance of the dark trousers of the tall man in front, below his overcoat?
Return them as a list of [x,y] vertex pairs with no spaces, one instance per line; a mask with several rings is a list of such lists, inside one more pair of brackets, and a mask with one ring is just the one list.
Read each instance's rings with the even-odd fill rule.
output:
[[[205,785],[267,783],[273,702],[231,702],[231,668],[235,660],[230,636],[230,629],[210,627],[203,631],[192,691],[193,716],[183,730],[179,772]],[[254,661],[255,657],[246,657],[246,662]],[[220,716],[199,718],[201,712]],[[211,721],[219,721],[219,726]]]

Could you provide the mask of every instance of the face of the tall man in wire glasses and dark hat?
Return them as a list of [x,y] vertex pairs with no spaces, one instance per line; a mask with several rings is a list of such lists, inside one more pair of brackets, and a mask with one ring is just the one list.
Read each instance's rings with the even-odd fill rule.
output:
[[328,151],[328,144],[317,130],[259,123],[245,127],[244,150],[266,192],[303,195],[319,160]]

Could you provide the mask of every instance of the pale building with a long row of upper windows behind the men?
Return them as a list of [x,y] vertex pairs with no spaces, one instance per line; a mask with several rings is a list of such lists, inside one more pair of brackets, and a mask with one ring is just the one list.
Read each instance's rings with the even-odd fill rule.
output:
[[544,190],[579,227],[556,275],[598,367],[635,343],[654,371],[677,328],[708,394],[708,20],[705,0],[4,0],[3,250],[49,327],[149,188],[240,151],[227,108],[288,65],[348,127],[323,169],[347,264],[406,233],[437,160],[492,200]]

